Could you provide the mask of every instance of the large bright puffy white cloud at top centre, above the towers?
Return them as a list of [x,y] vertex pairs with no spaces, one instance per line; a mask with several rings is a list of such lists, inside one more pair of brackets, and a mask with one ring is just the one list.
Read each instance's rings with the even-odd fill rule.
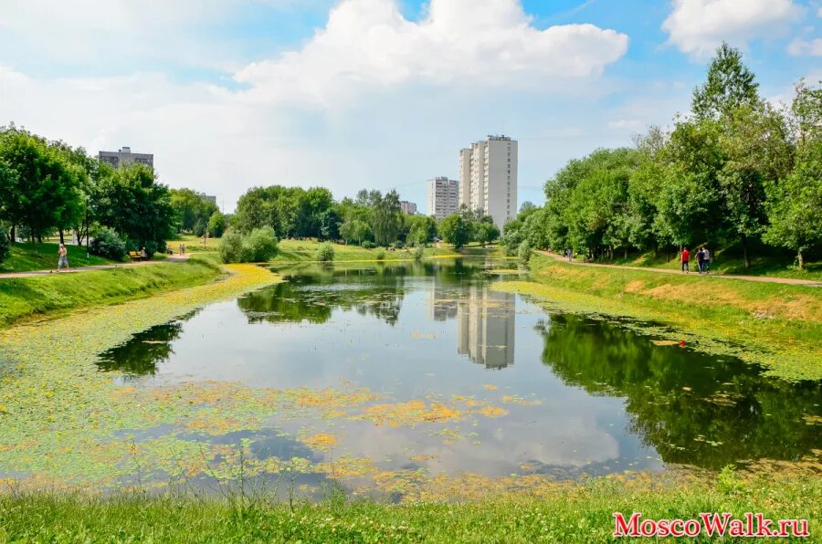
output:
[[250,99],[331,105],[362,89],[406,82],[536,88],[599,76],[627,36],[593,25],[531,25],[518,0],[432,0],[407,20],[395,0],[344,0],[299,50],[235,78]]

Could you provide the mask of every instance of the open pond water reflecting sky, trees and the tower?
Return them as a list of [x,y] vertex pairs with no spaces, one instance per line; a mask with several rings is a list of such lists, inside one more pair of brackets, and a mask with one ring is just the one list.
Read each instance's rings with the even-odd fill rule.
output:
[[618,322],[546,313],[494,291],[515,273],[499,267],[510,265],[280,269],[287,281],[145,330],[98,364],[138,388],[240,382],[374,394],[362,417],[281,413],[263,430],[203,438],[245,440],[258,459],[564,479],[797,460],[822,448],[818,382],[765,378]]

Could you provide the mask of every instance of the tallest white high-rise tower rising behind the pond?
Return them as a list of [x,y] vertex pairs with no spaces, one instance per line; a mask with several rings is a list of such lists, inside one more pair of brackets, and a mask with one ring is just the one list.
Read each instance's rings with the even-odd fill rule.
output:
[[459,151],[459,204],[502,228],[517,215],[517,141],[489,136]]

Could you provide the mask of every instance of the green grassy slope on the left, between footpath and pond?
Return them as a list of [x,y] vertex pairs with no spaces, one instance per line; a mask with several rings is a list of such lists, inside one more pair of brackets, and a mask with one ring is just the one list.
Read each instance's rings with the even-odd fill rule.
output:
[[221,273],[215,264],[195,259],[77,274],[0,279],[0,326],[44,312],[114,304],[202,285]]

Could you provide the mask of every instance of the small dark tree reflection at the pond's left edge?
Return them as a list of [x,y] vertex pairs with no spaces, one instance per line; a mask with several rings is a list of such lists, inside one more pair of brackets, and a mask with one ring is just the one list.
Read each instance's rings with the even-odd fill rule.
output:
[[155,374],[157,365],[174,355],[171,342],[180,338],[184,321],[194,317],[195,313],[132,335],[124,344],[100,353],[97,366],[102,371],[121,371],[138,376]]

